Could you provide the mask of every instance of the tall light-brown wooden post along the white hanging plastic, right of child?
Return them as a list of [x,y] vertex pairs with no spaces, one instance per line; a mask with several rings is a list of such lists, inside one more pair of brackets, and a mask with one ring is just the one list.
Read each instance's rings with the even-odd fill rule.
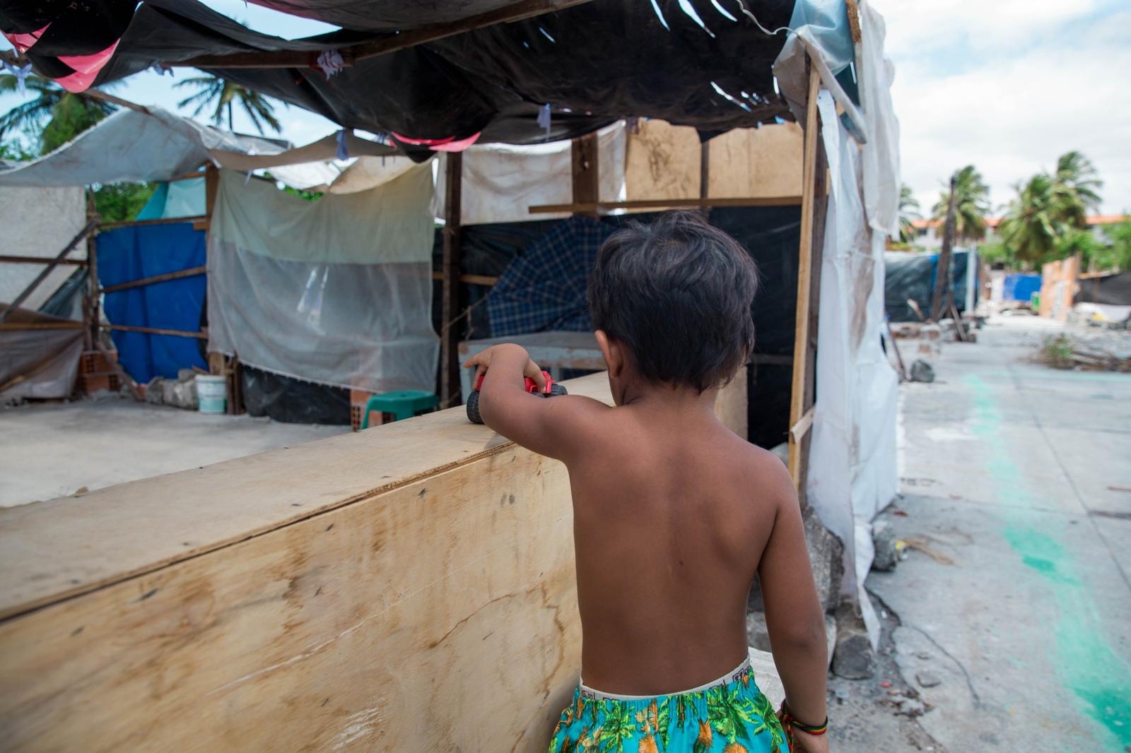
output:
[[[806,58],[808,61],[808,58]],[[815,197],[818,183],[818,141],[820,140],[820,119],[817,113],[817,95],[821,87],[821,76],[810,63],[809,68],[809,101],[805,110],[805,144],[802,162],[802,184],[801,184],[801,243],[797,257],[797,310],[794,326],[793,344],[793,383],[789,393],[789,475],[793,476],[794,487],[797,496],[804,507],[804,474],[802,462],[802,440],[812,425],[812,390],[809,382],[814,380],[815,374],[810,376],[812,369],[815,372],[815,364],[811,362],[815,355],[815,345],[810,343],[810,324],[815,322],[815,311],[812,309],[819,303],[818,296],[813,295],[813,235],[815,216]],[[821,183],[824,176],[820,178]],[[823,196],[823,191],[822,191]],[[823,226],[823,217],[821,218]],[[815,337],[815,326],[812,336]],[[809,400],[806,400],[806,396]],[[809,403],[809,407],[806,407]],[[808,443],[806,445],[808,447]]]

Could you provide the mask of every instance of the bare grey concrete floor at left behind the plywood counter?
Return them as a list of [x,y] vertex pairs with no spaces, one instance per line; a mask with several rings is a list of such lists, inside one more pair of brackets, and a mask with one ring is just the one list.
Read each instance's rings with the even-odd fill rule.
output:
[[185,470],[349,431],[116,397],[0,408],[0,507]]

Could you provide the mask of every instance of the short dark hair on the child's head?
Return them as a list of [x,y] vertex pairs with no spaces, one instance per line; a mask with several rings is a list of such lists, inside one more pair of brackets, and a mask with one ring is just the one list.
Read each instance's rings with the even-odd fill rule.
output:
[[737,241],[697,213],[668,211],[630,222],[601,246],[589,313],[645,379],[701,392],[749,357],[757,289],[758,268]]

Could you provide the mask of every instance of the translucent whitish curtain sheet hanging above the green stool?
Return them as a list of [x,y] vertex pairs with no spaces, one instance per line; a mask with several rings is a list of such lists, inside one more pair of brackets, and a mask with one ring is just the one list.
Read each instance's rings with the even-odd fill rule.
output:
[[304,201],[223,171],[208,237],[209,349],[287,376],[435,389],[431,165]]

